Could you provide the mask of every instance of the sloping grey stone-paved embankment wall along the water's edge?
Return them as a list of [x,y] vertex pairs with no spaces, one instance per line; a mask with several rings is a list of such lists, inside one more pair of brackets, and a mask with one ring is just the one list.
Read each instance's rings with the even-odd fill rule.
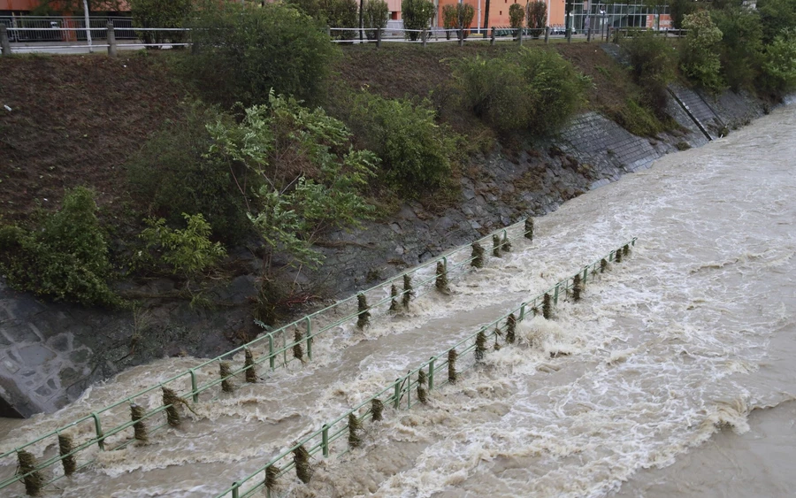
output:
[[[679,91],[673,89],[675,95]],[[713,115],[703,119],[718,119],[729,128],[763,113],[762,103],[748,96],[699,98],[705,107],[700,112]],[[517,218],[555,211],[576,195],[648,167],[656,158],[677,151],[678,144],[699,147],[708,142],[675,99],[669,109],[684,131],[650,140],[591,112],[575,119],[558,139],[529,144],[517,157],[509,159],[496,149],[488,157],[476,158],[485,166],[462,179],[462,199],[456,208],[432,213],[419,203],[409,203],[387,222],[331,234],[320,248],[325,265],[309,280],[325,281],[333,295],[348,295],[369,287],[374,276],[385,279]],[[245,252],[239,257],[253,273],[254,258]],[[147,287],[140,290],[157,294],[173,284],[155,280]],[[0,402],[4,410],[0,414],[29,416],[57,410],[92,382],[154,357],[215,356],[229,347],[237,333],[253,329],[249,309],[255,296],[254,277],[242,275],[211,296],[215,310],[166,303],[150,310],[148,323],[142,324],[142,316],[132,311],[110,313],[41,303],[0,283],[0,397],[5,400]]]

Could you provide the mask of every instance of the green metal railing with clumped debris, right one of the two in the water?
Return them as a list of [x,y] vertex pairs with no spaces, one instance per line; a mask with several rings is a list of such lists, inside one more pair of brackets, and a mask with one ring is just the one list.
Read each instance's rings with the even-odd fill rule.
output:
[[[304,448],[310,456],[318,453],[324,457],[330,456],[332,454],[333,442],[348,435],[350,430],[348,426],[348,416],[353,414],[360,421],[368,420],[372,417],[374,400],[378,400],[384,406],[392,406],[394,410],[409,410],[409,408],[417,404],[417,402],[420,402],[417,396],[415,396],[415,398],[412,397],[412,392],[415,391],[420,384],[418,378],[421,372],[425,374],[424,387],[428,392],[448,384],[448,375],[440,379],[438,372],[446,372],[446,370],[448,370],[448,358],[450,357],[451,351],[455,351],[455,364],[457,365],[461,360],[467,359],[468,354],[473,353],[470,358],[471,361],[468,361],[465,368],[457,370],[456,373],[458,374],[459,372],[471,370],[481,361],[479,355],[482,358],[486,352],[485,349],[479,349],[479,335],[481,336],[480,341],[482,342],[481,348],[483,348],[485,340],[494,340],[495,343],[497,343],[497,336],[505,337],[505,333],[508,332],[507,328],[510,321],[513,320],[517,323],[524,320],[529,314],[533,316],[541,314],[546,300],[547,303],[551,303],[555,306],[559,299],[575,295],[576,292],[579,294],[579,291],[586,285],[586,282],[591,281],[596,274],[605,271],[608,262],[621,261],[622,257],[629,254],[630,247],[635,245],[636,238],[633,238],[619,249],[610,251],[606,257],[584,266],[583,269],[578,271],[575,275],[559,281],[554,287],[550,287],[546,292],[535,296],[531,301],[521,303],[517,308],[509,311],[509,313],[503,315],[501,318],[481,327],[478,332],[471,333],[471,335],[464,338],[462,341],[456,342],[439,355],[432,356],[424,364],[421,364],[414,370],[410,370],[403,377],[395,379],[392,384],[379,391],[379,393],[372,395],[364,402],[360,402],[354,408],[323,425],[317,431],[304,436],[299,441],[295,441],[295,444],[291,448],[282,451],[278,456],[273,457],[268,464],[252,472],[246,478],[234,482],[232,486],[227,487],[218,494],[217,498],[227,498],[229,496],[232,498],[248,497],[263,488],[266,489],[268,498],[272,498],[272,494],[276,496],[274,489],[272,489],[268,483],[269,481],[272,482],[273,479],[279,479],[279,477],[286,475],[289,471],[295,470],[295,456],[291,458],[291,455],[294,454],[296,449]],[[576,287],[579,288],[576,289]],[[361,414],[360,411],[362,411]],[[341,455],[347,452],[348,448],[341,451]],[[266,477],[269,479],[266,479]],[[244,489],[244,486],[247,484],[250,485],[250,487]]]

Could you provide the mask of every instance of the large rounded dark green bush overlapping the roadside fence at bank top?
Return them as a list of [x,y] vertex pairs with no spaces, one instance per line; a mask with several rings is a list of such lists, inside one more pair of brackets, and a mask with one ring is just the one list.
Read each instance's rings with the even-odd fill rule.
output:
[[339,53],[318,21],[284,4],[209,0],[192,27],[195,45],[185,73],[227,105],[264,103],[272,88],[317,103]]

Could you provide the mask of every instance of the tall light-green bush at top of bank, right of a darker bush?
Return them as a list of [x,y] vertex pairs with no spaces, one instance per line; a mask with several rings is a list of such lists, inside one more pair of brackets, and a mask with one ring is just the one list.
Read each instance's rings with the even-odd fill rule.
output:
[[680,68],[702,88],[711,92],[721,91],[724,86],[719,58],[722,31],[710,19],[708,11],[696,11],[685,16],[683,27],[688,33],[680,53]]

